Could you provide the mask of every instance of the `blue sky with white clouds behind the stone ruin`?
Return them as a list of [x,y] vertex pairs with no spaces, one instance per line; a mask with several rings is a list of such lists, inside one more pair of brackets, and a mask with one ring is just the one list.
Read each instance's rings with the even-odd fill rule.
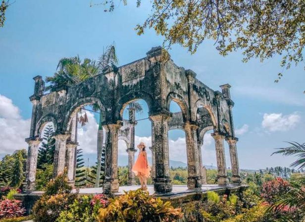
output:
[[[62,57],[79,54],[97,59],[103,46],[113,41],[120,65],[143,58],[153,46],[162,44],[162,37],[153,30],[140,37],[134,31],[150,13],[149,3],[136,8],[136,3],[129,1],[127,6],[120,4],[114,12],[105,13],[103,6],[90,7],[91,2],[99,1],[16,0],[7,9],[4,28],[0,28],[0,154],[26,147],[23,140],[29,132],[32,105],[28,97],[33,93],[33,76],[52,75]],[[241,52],[222,57],[213,43],[204,41],[194,55],[174,45],[171,58],[178,66],[192,69],[214,90],[231,84],[241,168],[288,166],[293,158],[270,154],[274,148],[285,146],[283,141],[305,142],[304,63],[285,71],[282,80],[274,83],[282,71],[279,57],[263,63],[257,59],[242,63]],[[141,117],[146,115],[144,111]],[[149,124],[149,120],[139,122],[139,141],[149,140]],[[84,131],[89,129],[88,125]],[[185,162],[184,133],[177,130],[169,136],[170,158]],[[213,141],[208,135],[205,139],[203,162],[215,165]],[[90,143],[94,146],[94,139]]]

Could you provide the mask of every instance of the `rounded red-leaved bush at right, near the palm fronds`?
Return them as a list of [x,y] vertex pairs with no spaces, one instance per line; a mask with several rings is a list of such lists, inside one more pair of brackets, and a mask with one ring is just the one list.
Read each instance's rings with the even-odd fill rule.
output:
[[286,194],[290,189],[288,181],[278,177],[275,180],[263,183],[261,188],[261,197],[268,203],[273,204],[278,195]]

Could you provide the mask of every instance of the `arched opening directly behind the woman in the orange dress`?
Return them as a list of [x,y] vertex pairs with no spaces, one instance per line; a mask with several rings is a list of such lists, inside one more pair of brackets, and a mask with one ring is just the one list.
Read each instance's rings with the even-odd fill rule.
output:
[[[140,185],[131,168],[137,161],[140,142],[145,143],[149,165],[152,166],[152,122],[149,119],[149,105],[144,99],[129,101],[120,111],[123,126],[118,132],[118,178],[119,185]],[[124,141],[123,141],[124,140]],[[152,184],[148,178],[148,185]]]

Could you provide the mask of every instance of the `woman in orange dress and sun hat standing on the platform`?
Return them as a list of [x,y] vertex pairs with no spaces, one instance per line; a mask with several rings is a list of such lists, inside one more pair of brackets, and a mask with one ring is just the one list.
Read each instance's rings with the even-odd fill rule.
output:
[[138,145],[138,148],[140,149],[138,159],[131,170],[135,173],[136,176],[139,177],[141,189],[147,190],[147,178],[151,176],[151,167],[148,165],[145,144],[141,142]]

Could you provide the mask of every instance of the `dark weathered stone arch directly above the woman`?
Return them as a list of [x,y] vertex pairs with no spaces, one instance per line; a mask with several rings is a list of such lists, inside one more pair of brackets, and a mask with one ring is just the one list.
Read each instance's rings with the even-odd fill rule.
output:
[[147,103],[149,112],[153,110],[153,97],[149,93],[144,91],[130,92],[119,99],[115,108],[115,117],[117,118],[116,120],[123,119],[123,111],[125,110],[128,103],[139,99],[142,99]]

